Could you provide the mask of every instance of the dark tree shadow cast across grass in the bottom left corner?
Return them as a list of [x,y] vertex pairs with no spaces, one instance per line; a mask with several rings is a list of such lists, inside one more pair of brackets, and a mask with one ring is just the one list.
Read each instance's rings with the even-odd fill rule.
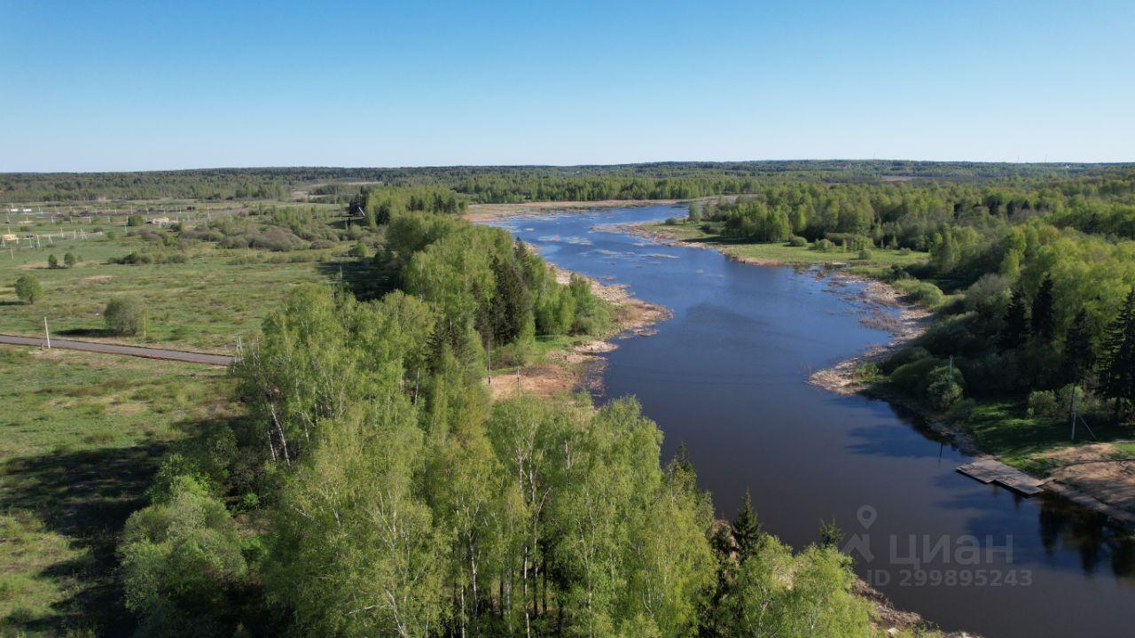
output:
[[132,447],[54,451],[0,465],[15,489],[0,494],[0,511],[25,513],[85,552],[40,576],[74,581],[75,593],[44,618],[9,618],[17,632],[61,636],[94,627],[99,636],[129,636],[135,622],[123,606],[115,548],[126,519],[145,505],[144,493],[165,451],[159,443]]

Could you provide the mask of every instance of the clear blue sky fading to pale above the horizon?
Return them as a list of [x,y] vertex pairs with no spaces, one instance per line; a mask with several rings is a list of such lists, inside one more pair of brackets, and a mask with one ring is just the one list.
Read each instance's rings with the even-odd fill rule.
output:
[[1135,1],[0,0],[0,171],[1135,160]]

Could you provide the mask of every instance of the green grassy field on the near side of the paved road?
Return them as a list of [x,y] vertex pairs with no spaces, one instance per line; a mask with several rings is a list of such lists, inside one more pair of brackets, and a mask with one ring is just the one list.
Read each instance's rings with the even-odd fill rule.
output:
[[0,635],[129,629],[117,536],[165,447],[230,410],[226,384],[219,368],[0,346]]

